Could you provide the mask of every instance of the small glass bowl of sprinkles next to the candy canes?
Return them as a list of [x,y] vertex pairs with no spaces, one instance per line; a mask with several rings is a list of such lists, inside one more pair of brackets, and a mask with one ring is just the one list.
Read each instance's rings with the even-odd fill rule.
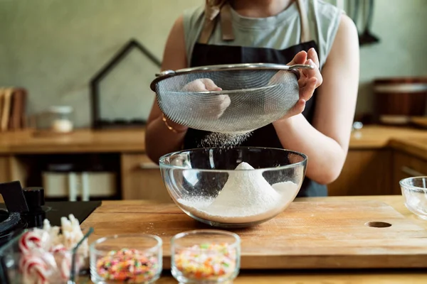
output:
[[106,236],[90,244],[93,283],[153,283],[162,273],[162,239],[151,234]]

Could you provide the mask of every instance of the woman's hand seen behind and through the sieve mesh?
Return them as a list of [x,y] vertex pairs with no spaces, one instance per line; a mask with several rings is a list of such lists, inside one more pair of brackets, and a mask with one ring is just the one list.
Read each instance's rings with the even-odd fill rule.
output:
[[[221,91],[222,89],[214,81],[202,78],[191,81],[182,87],[181,92],[206,92]],[[214,101],[213,101],[214,100]],[[192,113],[201,113],[210,116],[213,119],[219,119],[224,111],[230,106],[231,100],[227,94],[218,94],[210,96],[197,96],[191,98],[194,106],[191,106]]]

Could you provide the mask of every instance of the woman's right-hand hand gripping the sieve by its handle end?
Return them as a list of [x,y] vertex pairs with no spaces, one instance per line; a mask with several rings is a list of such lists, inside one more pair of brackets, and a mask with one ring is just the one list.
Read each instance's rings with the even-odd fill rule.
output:
[[[305,51],[300,51],[295,55],[291,62],[288,65],[295,64],[307,64],[314,66],[313,69],[300,69],[300,79],[298,80],[298,86],[300,88],[300,99],[295,104],[292,109],[283,116],[281,119],[288,119],[291,116],[295,116],[297,114],[302,113],[305,109],[305,102],[307,102],[315,92],[315,89],[322,84],[323,79],[319,70],[319,58],[317,56],[316,50],[314,48],[310,48],[308,53]],[[285,71],[284,71],[285,72]],[[280,72],[278,72],[276,76],[280,76]],[[274,77],[272,80],[274,80]]]

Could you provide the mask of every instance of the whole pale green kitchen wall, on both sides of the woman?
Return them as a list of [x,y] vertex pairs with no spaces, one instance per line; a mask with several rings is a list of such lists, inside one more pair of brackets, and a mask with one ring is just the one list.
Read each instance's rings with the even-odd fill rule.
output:
[[[95,72],[130,38],[162,58],[175,18],[203,3],[0,0],[0,86],[26,87],[30,113],[68,104],[76,109],[76,124],[88,126],[89,81]],[[381,43],[361,50],[359,112],[371,109],[369,82],[374,77],[427,75],[426,27],[426,0],[376,0],[372,30]],[[147,59],[131,53],[102,82],[102,116],[147,117],[154,99],[148,85],[155,72]]]

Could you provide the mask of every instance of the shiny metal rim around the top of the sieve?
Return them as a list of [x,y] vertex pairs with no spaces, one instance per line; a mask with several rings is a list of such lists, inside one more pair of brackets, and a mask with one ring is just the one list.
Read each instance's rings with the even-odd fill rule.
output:
[[284,65],[274,63],[239,63],[239,64],[219,64],[206,65],[199,67],[183,68],[179,70],[164,70],[156,74],[156,78],[149,85],[153,92],[156,92],[157,83],[170,77],[186,75],[195,72],[214,72],[214,71],[231,71],[231,70],[285,70],[291,71],[299,78],[300,73],[297,69],[314,69],[314,66],[307,64]]

